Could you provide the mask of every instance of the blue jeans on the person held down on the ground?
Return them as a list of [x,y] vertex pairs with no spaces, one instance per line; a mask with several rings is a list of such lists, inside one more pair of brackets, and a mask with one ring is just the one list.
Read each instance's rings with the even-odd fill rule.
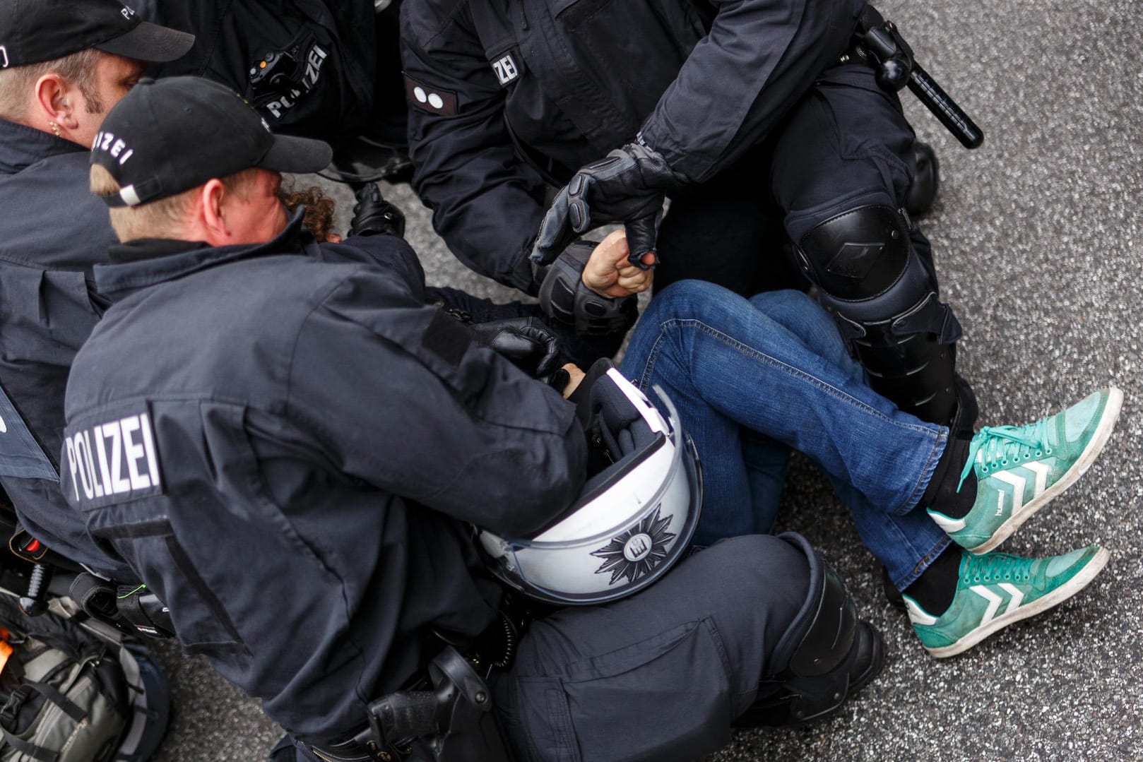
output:
[[793,449],[830,478],[897,587],[949,545],[918,507],[948,430],[874,393],[806,295],[748,300],[680,281],[644,313],[623,372],[645,391],[662,386],[695,440],[704,482],[696,544],[769,531]]

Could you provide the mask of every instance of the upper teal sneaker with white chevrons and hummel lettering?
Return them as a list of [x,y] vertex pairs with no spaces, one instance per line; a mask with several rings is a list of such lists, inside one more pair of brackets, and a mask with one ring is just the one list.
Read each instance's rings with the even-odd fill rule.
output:
[[1105,388],[1026,426],[985,426],[968,444],[957,491],[976,472],[976,500],[964,519],[928,508],[958,545],[988,553],[1068,489],[1108,443],[1124,393]]

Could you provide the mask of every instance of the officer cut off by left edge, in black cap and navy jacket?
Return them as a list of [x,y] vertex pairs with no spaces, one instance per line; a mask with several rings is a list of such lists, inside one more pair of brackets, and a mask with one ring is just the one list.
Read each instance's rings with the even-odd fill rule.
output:
[[194,38],[114,0],[0,1],[0,482],[33,537],[114,571],[59,495],[72,358],[102,306],[91,265],[114,235],[87,191],[88,149],[143,62]]

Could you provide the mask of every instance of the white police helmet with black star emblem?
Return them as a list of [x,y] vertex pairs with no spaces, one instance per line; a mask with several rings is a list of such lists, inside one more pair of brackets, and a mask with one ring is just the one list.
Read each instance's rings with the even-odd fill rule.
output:
[[530,537],[478,530],[497,577],[542,601],[602,603],[650,585],[682,556],[698,523],[702,472],[678,411],[654,391],[666,418],[614,366],[594,382],[597,443],[614,463]]

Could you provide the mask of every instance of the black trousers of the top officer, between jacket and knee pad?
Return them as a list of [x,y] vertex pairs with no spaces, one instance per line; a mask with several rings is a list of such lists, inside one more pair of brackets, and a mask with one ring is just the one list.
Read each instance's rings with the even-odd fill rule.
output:
[[[743,296],[805,288],[790,242],[854,207],[902,207],[916,171],[913,139],[900,99],[878,87],[872,69],[829,69],[764,144],[671,196],[655,288],[687,278]],[[912,243],[932,273],[928,240],[914,232]]]

